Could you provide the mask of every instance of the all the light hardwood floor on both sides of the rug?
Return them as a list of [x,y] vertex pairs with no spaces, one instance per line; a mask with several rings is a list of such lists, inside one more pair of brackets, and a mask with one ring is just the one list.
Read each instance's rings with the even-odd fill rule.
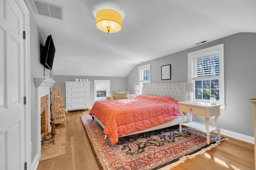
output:
[[[88,110],[68,111],[66,155],[39,162],[37,170],[98,170],[92,150],[80,121]],[[62,125],[63,124],[63,125]],[[62,128],[64,123],[56,125]],[[232,139],[218,147],[172,168],[172,170],[249,170],[254,169],[254,145]]]

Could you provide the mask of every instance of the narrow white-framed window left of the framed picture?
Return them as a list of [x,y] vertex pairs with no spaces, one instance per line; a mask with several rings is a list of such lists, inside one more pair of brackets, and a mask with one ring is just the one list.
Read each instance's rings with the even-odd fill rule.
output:
[[150,84],[150,64],[139,67],[139,94],[141,94],[144,84]]

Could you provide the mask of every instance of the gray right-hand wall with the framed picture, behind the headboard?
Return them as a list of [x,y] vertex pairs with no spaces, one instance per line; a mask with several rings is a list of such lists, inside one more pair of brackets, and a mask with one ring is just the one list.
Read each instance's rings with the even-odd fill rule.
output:
[[[256,97],[256,33],[237,33],[178,53],[138,64],[127,76],[127,90],[138,84],[138,66],[150,64],[151,83],[187,82],[188,53],[224,43],[225,102],[220,110],[221,129],[254,137],[253,105]],[[171,80],[161,80],[161,66],[171,64]],[[204,123],[204,118],[195,116]],[[211,124],[212,125],[212,124]]]

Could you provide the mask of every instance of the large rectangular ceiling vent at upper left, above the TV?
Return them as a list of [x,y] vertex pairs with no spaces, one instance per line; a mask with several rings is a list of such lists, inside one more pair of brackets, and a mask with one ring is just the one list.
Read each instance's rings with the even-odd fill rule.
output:
[[40,0],[31,0],[31,2],[36,14],[63,20],[63,7]]

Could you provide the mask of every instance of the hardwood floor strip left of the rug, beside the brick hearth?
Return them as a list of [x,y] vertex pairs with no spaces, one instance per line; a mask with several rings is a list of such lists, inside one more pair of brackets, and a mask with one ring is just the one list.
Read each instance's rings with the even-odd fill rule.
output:
[[[98,165],[80,121],[89,110],[68,111],[66,114],[66,155],[39,162],[37,170],[98,170]],[[56,128],[64,123],[56,124]],[[58,134],[57,134],[58,135]]]

